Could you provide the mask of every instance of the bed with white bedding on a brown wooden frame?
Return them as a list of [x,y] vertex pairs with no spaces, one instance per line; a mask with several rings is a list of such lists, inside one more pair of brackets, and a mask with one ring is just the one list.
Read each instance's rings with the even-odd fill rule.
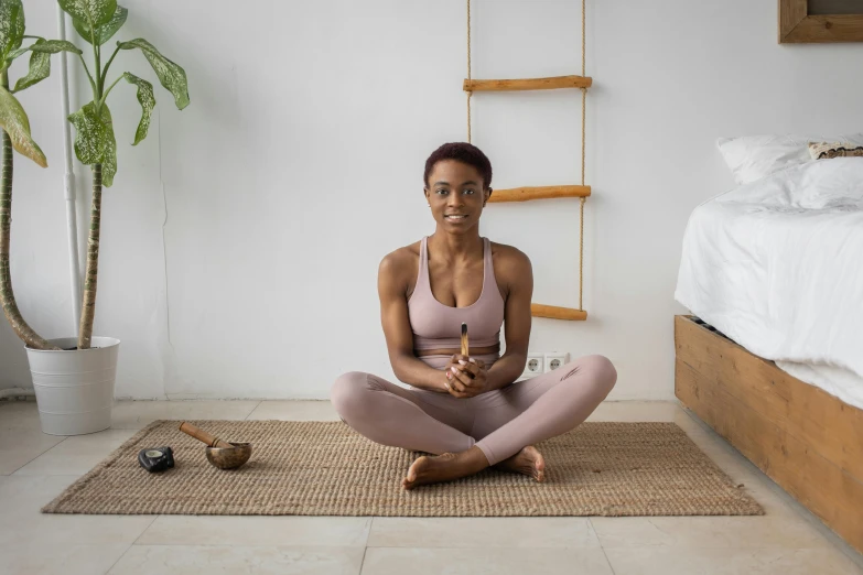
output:
[[676,394],[863,551],[863,158],[743,180],[687,227]]

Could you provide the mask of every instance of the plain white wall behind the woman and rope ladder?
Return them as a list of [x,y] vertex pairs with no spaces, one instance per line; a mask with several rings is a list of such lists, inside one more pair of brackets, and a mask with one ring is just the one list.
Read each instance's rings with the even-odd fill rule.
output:
[[[127,4],[119,37],[183,65],[192,105],[179,112],[158,87],[134,149],[133,89],[109,102],[119,173],[104,198],[96,333],[123,341],[117,395],[325,398],[343,371],[391,376],[377,264],[433,231],[423,162],[466,137],[464,1]],[[29,33],[56,36],[53,2],[28,10]],[[673,395],[681,237],[691,209],[732,184],[715,139],[863,129],[863,44],[778,45],[776,11],[589,1],[591,317],[535,319],[531,349],[607,355],[613,399]],[[578,74],[580,18],[575,0],[474,0],[474,77]],[[138,53],[115,67],[154,82]],[[22,96],[51,167],[17,162],[12,247],[20,305],[47,337],[71,332],[57,69]],[[578,182],[579,97],[474,97],[497,187]],[[576,305],[576,202],[495,205],[482,232],[530,256],[535,301]],[[0,366],[0,387],[29,384],[6,324]]]

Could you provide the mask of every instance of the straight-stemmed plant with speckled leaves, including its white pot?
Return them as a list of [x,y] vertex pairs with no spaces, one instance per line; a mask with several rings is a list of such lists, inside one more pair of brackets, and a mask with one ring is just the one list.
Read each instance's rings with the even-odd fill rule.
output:
[[117,173],[117,141],[107,100],[121,79],[137,87],[142,113],[132,145],[137,145],[147,137],[150,117],[155,106],[152,84],[133,74],[125,72],[119,74],[110,85],[108,84],[108,72],[114,58],[120,51],[140,50],[153,67],[159,82],[173,95],[176,107],[183,109],[188,106],[190,100],[186,74],[183,68],[164,57],[143,39],[117,42],[116,48],[103,65],[103,45],[120,30],[128,17],[128,10],[118,6],[116,0],[58,0],[58,3],[72,17],[75,30],[93,51],[90,69],[79,50],[74,45],[66,46],[79,56],[93,90],[93,100],[68,117],[76,131],[75,155],[83,164],[89,165],[93,173],[87,265],[77,337],[47,341],[50,346],[54,346],[53,349],[28,343],[26,350],[33,373],[42,431],[54,435],[76,435],[110,426],[120,344],[116,338],[93,335],[99,264],[101,193],[104,186],[112,185]]

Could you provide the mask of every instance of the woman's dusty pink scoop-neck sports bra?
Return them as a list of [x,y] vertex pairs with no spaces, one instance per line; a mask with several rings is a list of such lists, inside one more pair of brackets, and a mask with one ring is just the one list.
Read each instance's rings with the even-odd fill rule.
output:
[[429,280],[428,236],[420,247],[420,271],[417,286],[408,300],[408,315],[413,330],[414,349],[459,349],[462,322],[467,324],[471,347],[489,347],[500,343],[504,323],[504,299],[497,289],[492,263],[492,242],[483,238],[483,291],[466,307],[451,307],[434,299]]

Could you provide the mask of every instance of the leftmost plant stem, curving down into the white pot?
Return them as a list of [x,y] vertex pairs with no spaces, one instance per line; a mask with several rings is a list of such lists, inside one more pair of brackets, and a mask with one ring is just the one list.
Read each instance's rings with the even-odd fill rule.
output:
[[[9,74],[0,76],[3,88],[9,89]],[[9,243],[12,229],[12,141],[2,132],[2,167],[0,169],[0,304],[15,335],[34,349],[60,349],[36,334],[21,316],[12,291],[12,273],[9,263]]]

